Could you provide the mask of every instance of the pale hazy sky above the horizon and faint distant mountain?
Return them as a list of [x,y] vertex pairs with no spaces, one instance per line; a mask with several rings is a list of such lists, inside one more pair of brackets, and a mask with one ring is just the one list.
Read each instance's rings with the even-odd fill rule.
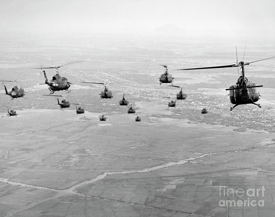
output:
[[[275,36],[274,0],[1,0],[1,32]],[[164,31],[164,29],[163,29]]]

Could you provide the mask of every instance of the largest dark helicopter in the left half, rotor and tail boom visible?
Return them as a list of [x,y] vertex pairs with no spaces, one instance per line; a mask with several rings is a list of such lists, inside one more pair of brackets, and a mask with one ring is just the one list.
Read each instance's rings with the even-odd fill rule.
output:
[[[48,84],[49,90],[51,91],[50,94],[53,94],[55,91],[60,91],[60,90],[67,91],[67,93],[69,93],[70,91],[68,89],[72,83],[68,82],[67,78],[60,77],[60,75],[58,73],[58,69],[62,66],[74,64],[77,62],[82,62],[82,61],[69,62],[67,64],[60,65],[60,66],[40,67],[40,68],[33,68],[33,69],[41,69],[41,71],[44,73],[45,84]],[[48,80],[48,78],[46,76],[45,70],[42,70],[42,69],[56,69],[55,75],[53,76],[53,78],[50,81]]]

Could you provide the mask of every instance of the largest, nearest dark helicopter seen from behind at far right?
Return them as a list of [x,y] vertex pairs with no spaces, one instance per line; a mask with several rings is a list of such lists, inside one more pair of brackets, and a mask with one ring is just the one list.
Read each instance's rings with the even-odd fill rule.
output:
[[[236,46],[236,55],[237,55],[237,46]],[[234,104],[233,107],[230,107],[230,111],[233,110],[238,105],[243,104],[254,104],[261,108],[260,104],[257,104],[257,102],[260,98],[260,94],[258,91],[258,87],[262,87],[262,85],[256,85],[255,82],[250,82],[248,79],[244,76],[244,66],[249,65],[253,62],[259,62],[262,60],[272,59],[274,57],[265,58],[261,60],[256,60],[252,62],[244,62],[243,61],[238,62],[238,55],[237,55],[237,62],[232,65],[221,65],[221,66],[212,66],[212,67],[201,67],[201,68],[191,68],[191,69],[177,69],[177,70],[192,70],[192,69],[218,69],[218,68],[229,68],[229,67],[238,67],[241,69],[239,72],[239,78],[237,80],[236,84],[230,85],[230,87],[226,90],[229,90],[229,99],[232,104]]]

